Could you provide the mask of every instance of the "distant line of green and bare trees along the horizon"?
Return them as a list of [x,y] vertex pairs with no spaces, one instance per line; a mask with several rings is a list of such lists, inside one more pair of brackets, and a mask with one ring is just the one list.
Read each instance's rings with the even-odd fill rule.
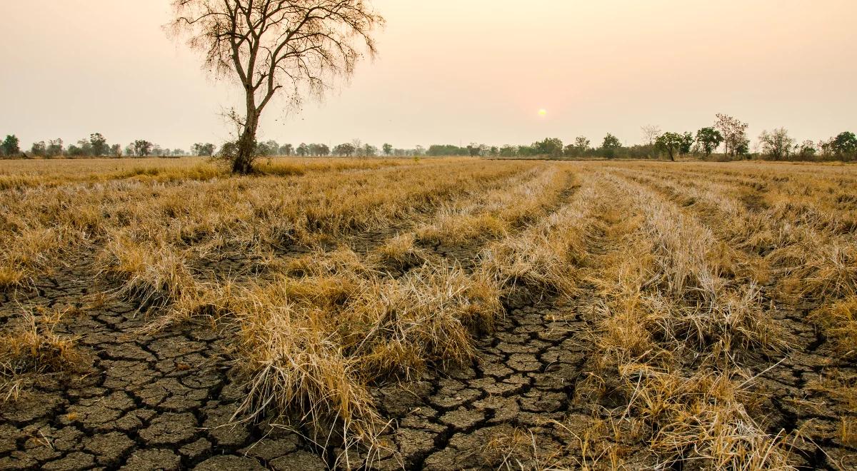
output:
[[[758,135],[758,141],[751,148],[747,137],[747,123],[733,116],[716,115],[715,122],[695,133],[687,131],[662,131],[655,125],[641,128],[642,144],[623,145],[613,134],[605,135],[597,146],[593,146],[585,136],[578,136],[572,143],[565,144],[558,138],[546,138],[533,142],[529,146],[487,146],[476,142],[467,146],[435,144],[425,149],[415,146],[411,149],[399,149],[389,143],[380,148],[359,139],[351,140],[333,147],[327,144],[306,144],[298,146],[279,144],[276,140],[267,140],[255,144],[255,154],[259,157],[297,156],[297,157],[440,157],[470,156],[486,158],[668,158],[680,157],[726,159],[764,158],[770,160],[857,160],[857,136],[845,131],[827,140],[818,142],[804,140],[798,142],[788,134],[786,128],[764,130]],[[722,149],[722,152],[717,151]],[[212,157],[231,155],[237,152],[237,143],[227,142],[218,150],[212,143],[195,143],[190,152],[182,149],[162,148],[149,140],[135,140],[124,148],[118,144],[109,144],[104,135],[90,134],[88,139],[78,140],[76,144],[64,146],[62,139],[33,143],[29,152],[20,148],[20,142],[14,134],[9,134],[0,142],[0,156],[6,158],[57,158],[57,157],[181,157],[194,155]]]

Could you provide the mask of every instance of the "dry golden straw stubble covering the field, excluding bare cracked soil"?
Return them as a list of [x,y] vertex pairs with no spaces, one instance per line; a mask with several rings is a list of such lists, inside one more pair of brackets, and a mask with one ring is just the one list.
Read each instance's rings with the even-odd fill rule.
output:
[[[4,299],[82,254],[149,314],[138,333],[230,330],[236,422],[315,424],[321,448],[374,465],[395,426],[377,387],[471,364],[515,307],[587,295],[590,354],[550,425],[564,448],[509,426],[480,452],[491,466],[792,469],[818,464],[812,447],[854,446],[848,167],[331,159],[225,178],[190,161],[44,164],[0,175]],[[22,313],[4,334],[7,398],[21,373],[81,361],[48,318]],[[824,338],[798,342],[807,323]],[[792,370],[794,389],[842,411],[812,446],[786,393],[761,392],[801,355],[836,359]]]

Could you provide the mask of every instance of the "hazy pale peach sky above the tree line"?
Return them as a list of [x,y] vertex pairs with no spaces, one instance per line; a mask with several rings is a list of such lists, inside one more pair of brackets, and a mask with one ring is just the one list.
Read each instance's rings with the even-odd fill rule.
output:
[[[593,143],[685,131],[716,112],[752,138],[857,131],[855,0],[375,0],[380,56],[262,139],[380,146]],[[239,95],[167,38],[169,0],[0,0],[0,134],[222,142]],[[548,110],[538,116],[539,109]]]

